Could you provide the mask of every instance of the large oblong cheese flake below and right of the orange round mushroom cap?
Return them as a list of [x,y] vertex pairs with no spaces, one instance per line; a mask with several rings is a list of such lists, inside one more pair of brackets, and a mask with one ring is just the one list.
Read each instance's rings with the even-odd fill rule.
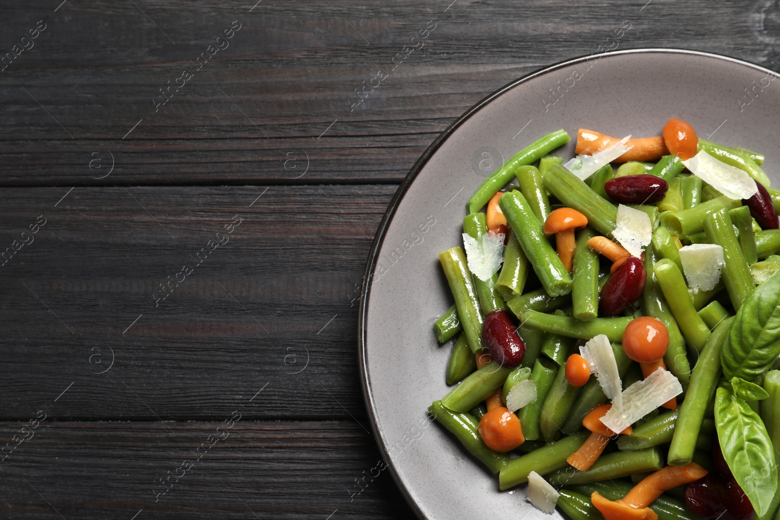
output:
[[622,412],[613,406],[601,417],[613,432],[622,432],[671,398],[683,393],[679,380],[668,370],[659,368],[644,380],[636,381],[623,391]]

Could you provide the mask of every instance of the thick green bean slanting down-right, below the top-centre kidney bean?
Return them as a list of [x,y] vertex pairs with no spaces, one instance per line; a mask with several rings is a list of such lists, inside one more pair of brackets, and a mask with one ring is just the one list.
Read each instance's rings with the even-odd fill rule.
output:
[[[605,198],[598,196],[585,182],[577,179],[569,170],[553,164],[544,177],[544,187],[558,200],[587,217],[592,228],[605,235],[615,231],[618,208]],[[503,199],[504,197],[502,197]]]

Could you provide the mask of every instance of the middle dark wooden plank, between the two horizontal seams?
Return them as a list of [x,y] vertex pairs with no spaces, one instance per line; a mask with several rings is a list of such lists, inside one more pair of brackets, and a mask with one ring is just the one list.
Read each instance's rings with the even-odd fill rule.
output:
[[0,267],[0,416],[73,384],[58,419],[210,419],[268,384],[253,418],[362,421],[357,298],[394,192],[4,189],[0,253],[33,242]]

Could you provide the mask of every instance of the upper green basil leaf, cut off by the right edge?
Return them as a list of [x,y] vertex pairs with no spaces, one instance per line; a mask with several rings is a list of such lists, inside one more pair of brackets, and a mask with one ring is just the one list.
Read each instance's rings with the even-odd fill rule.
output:
[[780,354],[780,271],[772,274],[734,317],[721,350],[723,375],[745,380],[766,372]]

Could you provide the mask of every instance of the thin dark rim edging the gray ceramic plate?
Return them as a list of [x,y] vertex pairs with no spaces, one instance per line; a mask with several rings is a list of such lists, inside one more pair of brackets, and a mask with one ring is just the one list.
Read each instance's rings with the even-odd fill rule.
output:
[[412,168],[410,168],[409,173],[406,174],[406,177],[404,177],[398,189],[395,190],[395,194],[392,196],[390,203],[388,203],[388,207],[385,210],[385,214],[382,215],[382,219],[379,223],[377,231],[374,234],[374,241],[371,244],[371,250],[368,253],[366,268],[365,271],[363,271],[363,281],[361,282],[361,288],[360,288],[360,294],[362,295],[362,297],[360,298],[360,306],[358,307],[358,317],[357,317],[357,351],[358,351],[357,353],[358,353],[358,366],[360,369],[360,387],[361,390],[363,391],[363,405],[365,405],[366,410],[368,412],[367,416],[369,422],[371,423],[371,432],[373,433],[374,440],[377,443],[377,447],[379,449],[380,455],[382,459],[385,461],[385,463],[388,465],[388,469],[390,469],[390,473],[392,475],[393,480],[395,481],[395,485],[398,486],[401,494],[406,500],[406,503],[409,504],[410,508],[414,511],[415,515],[417,515],[418,518],[427,519],[427,516],[425,516],[423,511],[420,510],[420,507],[417,505],[417,501],[413,500],[410,490],[406,487],[406,483],[403,481],[403,479],[399,476],[398,472],[396,471],[395,463],[393,462],[392,458],[388,455],[388,450],[385,447],[385,440],[383,439],[380,432],[378,431],[377,416],[375,414],[375,408],[374,408],[374,394],[371,390],[371,380],[370,380],[371,376],[367,371],[366,356],[365,356],[366,346],[367,346],[366,320],[367,320],[368,302],[371,299],[371,283],[369,283],[369,281],[371,281],[371,278],[374,277],[374,271],[376,270],[379,249],[385,242],[385,235],[387,234],[388,227],[392,222],[392,219],[395,217],[395,212],[396,210],[398,210],[399,203],[401,202],[403,196],[406,195],[406,192],[409,190],[410,186],[412,185],[412,182],[414,182],[414,179],[417,179],[417,175],[420,174],[420,172],[425,167],[427,162],[431,159],[433,154],[439,149],[439,147],[441,147],[442,143],[444,143],[445,140],[449,139],[449,137],[452,136],[452,134],[455,133],[456,129],[458,129],[461,125],[463,125],[463,123],[465,123],[468,119],[470,119],[473,115],[475,115],[478,111],[480,111],[481,108],[484,108],[484,106],[491,103],[491,101],[494,101],[495,98],[501,96],[506,91],[514,87],[517,87],[522,83],[526,83],[527,81],[533,80],[538,76],[543,76],[545,74],[553,73],[556,70],[562,69],[569,65],[576,65],[593,58],[601,59],[601,58],[612,57],[616,55],[632,55],[632,54],[675,54],[675,55],[694,55],[694,56],[701,56],[704,58],[715,58],[715,59],[723,60],[725,62],[736,63],[738,65],[746,65],[753,69],[757,69],[764,73],[770,73],[775,76],[778,75],[778,73],[775,73],[775,71],[767,69],[762,65],[746,62],[743,59],[733,58],[727,55],[722,55],[722,54],[707,52],[707,51],[697,51],[693,49],[657,48],[657,47],[623,49],[619,51],[607,51],[601,53],[581,55],[576,58],[569,58],[561,62],[554,63],[553,65],[542,67],[541,69],[534,70],[533,72],[528,73],[524,76],[520,76],[516,80],[512,80],[511,82],[507,83],[505,86],[499,88],[498,90],[495,90],[491,94],[488,94],[487,97],[484,97],[482,100],[477,102],[477,104],[474,104],[473,107],[463,112],[463,114],[460,115],[458,119],[452,122],[443,132],[441,132],[441,134],[439,134],[439,136],[436,137],[433,143],[431,143],[431,145],[426,148],[423,154],[420,155],[417,161],[415,161]]

